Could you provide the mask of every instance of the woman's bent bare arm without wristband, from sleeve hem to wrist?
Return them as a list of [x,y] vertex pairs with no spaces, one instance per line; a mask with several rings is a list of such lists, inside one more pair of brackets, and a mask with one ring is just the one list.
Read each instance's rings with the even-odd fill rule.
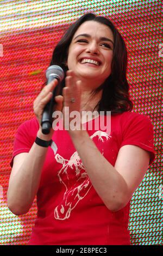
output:
[[70,131],[70,135],[92,185],[106,207],[111,211],[122,209],[147,171],[149,153],[134,145],[124,145],[112,166],[86,131]]

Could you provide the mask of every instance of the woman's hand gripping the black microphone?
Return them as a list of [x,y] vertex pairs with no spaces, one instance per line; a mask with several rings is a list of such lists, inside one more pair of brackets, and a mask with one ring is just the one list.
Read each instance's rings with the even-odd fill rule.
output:
[[[51,100],[51,97],[53,95],[53,90],[57,86],[58,81],[57,79],[53,80],[51,83],[47,84],[42,90],[41,93],[36,97],[34,100],[33,108],[34,113],[36,115],[37,120],[39,121],[40,125],[40,131],[41,131],[41,119],[42,119],[42,113],[43,109],[45,108],[46,104]],[[55,96],[55,101],[57,104],[54,106],[54,110],[62,110],[62,103],[63,103],[63,97],[61,95]],[[53,129],[51,129],[51,133],[53,133]]]

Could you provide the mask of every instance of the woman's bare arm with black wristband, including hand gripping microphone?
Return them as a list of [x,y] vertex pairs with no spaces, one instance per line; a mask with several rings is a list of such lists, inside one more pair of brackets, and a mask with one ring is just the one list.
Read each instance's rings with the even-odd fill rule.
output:
[[[56,85],[57,81],[49,83],[34,101],[34,113],[39,124],[41,123],[43,108],[51,99],[52,91]],[[60,109],[62,96],[55,97],[55,100],[57,101],[56,109]],[[43,135],[40,125],[37,137],[50,141],[52,135],[53,129],[51,129],[49,135]],[[46,153],[47,148],[40,147],[34,142],[29,153],[21,153],[14,157],[7,197],[8,207],[15,215],[26,214],[30,209],[39,188]]]

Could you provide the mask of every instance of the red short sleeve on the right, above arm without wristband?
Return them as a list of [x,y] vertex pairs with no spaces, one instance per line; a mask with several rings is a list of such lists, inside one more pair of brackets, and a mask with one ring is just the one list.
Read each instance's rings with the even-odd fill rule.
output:
[[123,145],[136,145],[149,151],[149,164],[154,162],[154,132],[151,120],[146,116],[130,112],[129,116],[124,118],[122,125]]

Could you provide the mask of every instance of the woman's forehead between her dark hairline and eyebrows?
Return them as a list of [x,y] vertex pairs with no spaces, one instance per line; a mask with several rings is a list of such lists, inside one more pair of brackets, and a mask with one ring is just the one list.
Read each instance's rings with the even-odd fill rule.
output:
[[109,39],[112,39],[112,41],[114,41],[114,36],[111,29],[108,26],[97,21],[85,21],[84,23],[82,23],[82,25],[80,25],[80,27],[77,29],[73,38],[83,33],[90,34],[91,36],[96,36],[98,38],[103,36],[108,37]]

